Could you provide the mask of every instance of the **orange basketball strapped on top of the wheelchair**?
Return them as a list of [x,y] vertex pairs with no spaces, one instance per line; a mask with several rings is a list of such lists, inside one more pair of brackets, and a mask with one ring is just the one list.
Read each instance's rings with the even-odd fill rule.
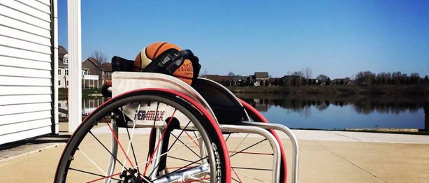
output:
[[[181,47],[174,45],[172,43],[165,42],[157,42],[147,45],[147,47],[143,48],[138,54],[134,61],[134,68],[146,68],[154,59],[166,50],[175,49],[177,51],[182,50]],[[136,69],[138,70],[138,69]],[[180,80],[186,82],[187,84],[192,84],[192,78],[194,76],[192,63],[189,59],[185,59],[183,64],[177,68],[177,70],[173,73],[173,76],[179,78]]]

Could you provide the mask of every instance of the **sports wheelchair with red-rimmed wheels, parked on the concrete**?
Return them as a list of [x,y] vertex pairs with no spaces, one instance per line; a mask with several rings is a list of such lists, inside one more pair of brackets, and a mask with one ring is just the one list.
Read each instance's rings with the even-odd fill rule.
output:
[[[292,131],[217,82],[115,72],[111,92],[71,136],[54,182],[298,182]],[[276,131],[291,140],[290,171]]]

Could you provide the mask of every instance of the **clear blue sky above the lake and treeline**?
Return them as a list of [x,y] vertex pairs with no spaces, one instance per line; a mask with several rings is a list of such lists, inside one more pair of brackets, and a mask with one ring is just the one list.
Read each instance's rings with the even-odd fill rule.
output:
[[[59,45],[67,3],[59,0]],[[429,1],[82,1],[82,59],[95,50],[134,59],[165,41],[189,49],[201,73],[353,77],[429,75]]]

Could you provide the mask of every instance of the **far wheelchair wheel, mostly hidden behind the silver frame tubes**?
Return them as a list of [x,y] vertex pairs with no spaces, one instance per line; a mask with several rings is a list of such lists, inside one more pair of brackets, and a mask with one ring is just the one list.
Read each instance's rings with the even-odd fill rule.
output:
[[[268,120],[261,113],[245,101],[240,100],[245,107],[250,120],[265,122]],[[287,180],[286,154],[277,133],[270,130],[280,145],[281,163],[280,179],[282,183]],[[272,149],[266,138],[250,135],[248,133],[224,134],[226,144],[230,151],[231,178],[233,182],[272,182]],[[263,162],[263,163],[261,163]]]

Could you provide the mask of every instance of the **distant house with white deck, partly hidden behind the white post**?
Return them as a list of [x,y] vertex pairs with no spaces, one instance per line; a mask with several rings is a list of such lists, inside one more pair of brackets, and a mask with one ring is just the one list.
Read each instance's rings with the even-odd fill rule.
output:
[[[58,87],[68,87],[68,52],[66,48],[58,46]],[[82,63],[82,87],[99,88],[99,76],[91,64]]]

